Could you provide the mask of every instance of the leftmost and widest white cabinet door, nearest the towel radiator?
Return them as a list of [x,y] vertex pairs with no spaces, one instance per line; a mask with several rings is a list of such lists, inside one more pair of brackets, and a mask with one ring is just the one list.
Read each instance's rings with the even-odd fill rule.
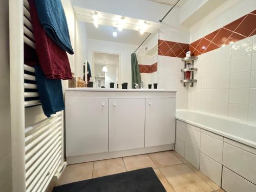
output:
[[109,151],[109,99],[66,98],[67,156]]

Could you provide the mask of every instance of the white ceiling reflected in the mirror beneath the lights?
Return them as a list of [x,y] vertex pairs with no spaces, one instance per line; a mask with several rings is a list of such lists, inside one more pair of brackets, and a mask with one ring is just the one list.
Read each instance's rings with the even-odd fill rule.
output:
[[[99,25],[99,27],[96,28],[91,23],[86,23],[86,29],[87,29],[88,38],[120,42],[123,44],[132,44],[132,45],[140,45],[141,42],[149,34],[145,32],[143,35],[141,35],[139,31],[130,30],[130,29],[123,29],[121,32],[119,32],[116,29],[117,36],[114,37],[112,35],[114,31],[114,27]],[[154,36],[154,35],[151,35],[151,36]]]

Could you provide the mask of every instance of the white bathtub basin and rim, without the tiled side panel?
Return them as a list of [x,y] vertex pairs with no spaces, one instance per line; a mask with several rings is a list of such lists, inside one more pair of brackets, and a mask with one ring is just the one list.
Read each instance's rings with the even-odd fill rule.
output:
[[176,119],[256,148],[254,122],[190,110],[177,110]]

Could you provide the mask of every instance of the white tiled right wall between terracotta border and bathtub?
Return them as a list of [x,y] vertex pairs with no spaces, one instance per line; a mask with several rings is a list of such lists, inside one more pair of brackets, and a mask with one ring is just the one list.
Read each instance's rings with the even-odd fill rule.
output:
[[256,35],[198,56],[188,108],[256,121]]

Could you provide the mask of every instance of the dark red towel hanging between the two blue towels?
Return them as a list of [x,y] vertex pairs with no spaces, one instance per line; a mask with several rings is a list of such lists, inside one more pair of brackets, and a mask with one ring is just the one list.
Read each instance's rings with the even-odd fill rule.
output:
[[50,79],[72,79],[68,55],[46,34],[39,23],[35,3],[29,0],[36,53],[42,71]]

